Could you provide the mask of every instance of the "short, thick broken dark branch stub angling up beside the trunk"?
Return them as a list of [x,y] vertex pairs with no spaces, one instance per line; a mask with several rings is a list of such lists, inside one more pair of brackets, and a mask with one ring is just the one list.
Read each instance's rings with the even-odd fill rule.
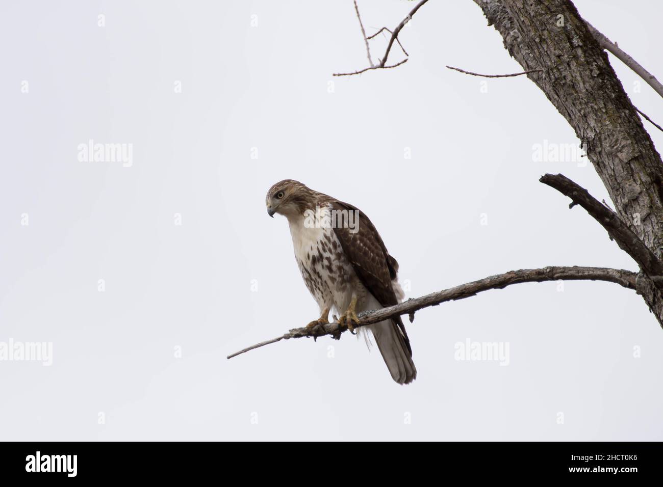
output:
[[606,205],[601,204],[589,194],[587,189],[575,184],[562,174],[546,174],[540,182],[555,188],[560,193],[573,199],[573,203],[580,205],[587,213],[603,226],[619,248],[627,252],[638,263],[642,272],[648,276],[663,276],[663,264],[656,258],[654,252],[649,250],[640,238],[619,219],[617,213]]

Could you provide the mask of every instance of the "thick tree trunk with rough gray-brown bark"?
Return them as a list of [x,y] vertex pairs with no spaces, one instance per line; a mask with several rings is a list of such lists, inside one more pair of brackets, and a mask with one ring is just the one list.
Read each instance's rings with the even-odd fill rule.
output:
[[[571,125],[621,221],[661,260],[663,162],[607,54],[570,0],[473,0],[505,48]],[[642,268],[638,292],[663,326],[660,280]]]

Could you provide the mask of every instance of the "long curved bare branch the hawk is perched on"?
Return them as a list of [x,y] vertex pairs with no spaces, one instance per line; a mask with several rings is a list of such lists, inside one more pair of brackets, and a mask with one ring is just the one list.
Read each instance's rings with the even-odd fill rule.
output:
[[[497,274],[496,276],[489,276],[485,279],[480,279],[478,281],[468,282],[467,284],[461,284],[455,288],[450,288],[440,292],[435,292],[422,296],[421,298],[408,299],[400,304],[385,307],[383,309],[377,309],[374,311],[364,311],[359,313],[359,322],[355,325],[356,327],[363,327],[366,325],[372,325],[373,323],[379,323],[387,318],[396,316],[396,315],[410,315],[410,321],[414,317],[414,312],[425,307],[436,306],[440,303],[446,301],[455,301],[456,299],[469,298],[475,296],[476,294],[488,291],[492,289],[503,289],[512,284],[520,284],[523,282],[545,282],[545,281],[558,281],[558,280],[593,280],[593,281],[606,281],[614,282],[619,284],[624,288],[635,290],[636,289],[636,279],[637,274],[629,270],[621,269],[610,269],[603,267],[545,267],[542,269],[521,269],[521,270],[512,270],[506,272],[505,274]],[[293,328],[288,333],[284,333],[280,337],[276,337],[272,340],[264,341],[247,347],[239,352],[235,352],[231,355],[228,355],[227,358],[233,358],[239,354],[243,354],[253,349],[269,345],[270,343],[276,343],[281,340],[288,340],[291,338],[302,338],[302,337],[312,337],[317,339],[318,337],[324,337],[330,335],[335,339],[341,337],[341,333],[347,330],[347,327],[338,323],[338,321],[333,321],[333,323],[328,323],[327,325],[320,325],[313,328]]]

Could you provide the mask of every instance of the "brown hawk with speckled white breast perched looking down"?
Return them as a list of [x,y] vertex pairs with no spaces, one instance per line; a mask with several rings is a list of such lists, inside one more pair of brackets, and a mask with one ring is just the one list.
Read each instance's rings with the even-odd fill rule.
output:
[[[333,307],[342,313],[339,323],[352,331],[357,313],[404,298],[398,262],[363,211],[294,180],[274,184],[267,191],[266,203],[269,216],[278,213],[288,219],[299,270],[320,307],[320,318],[308,327],[329,323]],[[400,316],[369,329],[393,380],[412,382],[416,368]]]

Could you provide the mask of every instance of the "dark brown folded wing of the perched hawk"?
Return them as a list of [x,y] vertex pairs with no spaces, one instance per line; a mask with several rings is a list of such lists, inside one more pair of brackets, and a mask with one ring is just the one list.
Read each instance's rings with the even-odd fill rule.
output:
[[[359,214],[357,233],[351,233],[353,229],[347,225],[335,225],[334,233],[341,242],[343,252],[352,264],[355,273],[366,289],[375,296],[375,299],[384,307],[398,304],[398,298],[396,298],[391,283],[391,280],[396,278],[398,262],[387,252],[385,243],[371,220],[363,211],[349,203],[343,203],[343,201],[333,201],[331,207],[335,210],[357,211]],[[400,316],[392,319],[402,331],[408,351],[412,356],[410,340],[402,319]]]

